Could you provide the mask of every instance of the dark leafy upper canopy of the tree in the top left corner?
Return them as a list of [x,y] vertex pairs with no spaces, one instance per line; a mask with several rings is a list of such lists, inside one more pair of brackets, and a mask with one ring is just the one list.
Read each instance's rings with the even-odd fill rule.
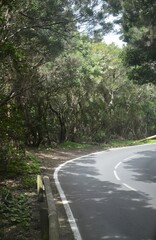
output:
[[[5,75],[2,75],[3,82],[9,76],[12,78],[9,81],[9,91],[0,102],[2,105],[21,92],[23,86],[19,86],[19,82],[24,81],[21,78],[31,76],[32,79],[39,65],[48,57],[55,57],[60,53],[63,39],[67,37],[67,32],[69,35],[73,24],[71,11],[65,10],[65,3],[60,1],[2,2],[0,11],[1,66],[2,74]],[[20,81],[15,81],[19,78]],[[31,81],[26,82],[27,87],[29,82]]]

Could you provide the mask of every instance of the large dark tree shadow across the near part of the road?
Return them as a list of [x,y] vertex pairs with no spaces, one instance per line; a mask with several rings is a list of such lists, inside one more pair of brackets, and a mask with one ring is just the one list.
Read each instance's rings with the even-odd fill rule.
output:
[[[154,158],[155,152],[139,154],[147,159]],[[66,178],[70,176],[72,184],[64,182],[63,188],[66,193],[70,192],[70,196],[66,194],[66,197],[78,219],[83,239],[155,239],[156,209],[149,205],[148,195],[123,190],[120,184],[100,181],[94,164],[94,155],[91,155],[68,164],[66,173],[60,173],[62,180],[65,175]],[[150,177],[151,171],[139,169],[139,162],[137,166],[133,165],[133,161],[127,162],[127,167],[142,173],[145,179],[155,181],[154,173]]]

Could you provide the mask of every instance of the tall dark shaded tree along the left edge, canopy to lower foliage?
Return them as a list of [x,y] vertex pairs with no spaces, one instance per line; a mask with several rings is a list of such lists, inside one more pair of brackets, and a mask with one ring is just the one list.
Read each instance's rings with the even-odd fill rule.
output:
[[[21,156],[28,125],[26,111],[23,109],[27,108],[26,103],[30,103],[28,99],[31,99],[31,94],[35,94],[35,89],[39,92],[39,86],[43,81],[38,68],[49,58],[54,59],[63,50],[64,41],[75,26],[72,17],[68,1],[11,0],[0,3],[2,164],[7,165],[11,159],[18,159],[18,153]],[[29,105],[27,112],[28,110]],[[40,112],[38,111],[38,118]],[[36,115],[35,113],[37,119]],[[38,138],[35,141],[40,142],[39,124],[36,128],[33,126],[30,129],[31,135],[34,134]]]

